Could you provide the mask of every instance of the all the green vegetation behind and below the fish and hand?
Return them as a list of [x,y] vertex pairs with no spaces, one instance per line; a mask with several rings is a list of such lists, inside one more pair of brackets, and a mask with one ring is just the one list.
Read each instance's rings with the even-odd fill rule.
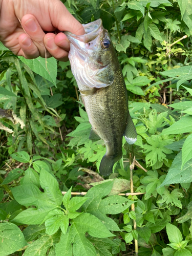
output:
[[0,44],[0,256],[192,255],[191,0],[65,5],[109,30],[138,140],[103,180],[69,61]]

